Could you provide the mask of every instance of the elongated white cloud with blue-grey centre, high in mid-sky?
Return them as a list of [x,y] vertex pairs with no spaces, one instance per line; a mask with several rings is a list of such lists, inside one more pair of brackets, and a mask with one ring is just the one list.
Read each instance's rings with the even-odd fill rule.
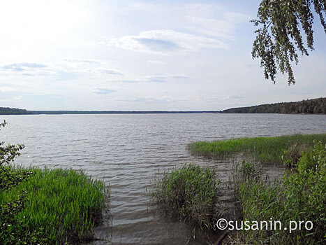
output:
[[195,36],[171,29],[142,31],[138,36],[122,36],[112,39],[119,48],[154,55],[172,55],[201,48],[227,48],[228,45],[216,38]]

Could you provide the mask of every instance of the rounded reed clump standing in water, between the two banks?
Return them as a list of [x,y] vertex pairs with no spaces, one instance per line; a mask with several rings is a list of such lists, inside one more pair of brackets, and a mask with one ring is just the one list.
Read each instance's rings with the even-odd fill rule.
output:
[[186,164],[164,172],[153,197],[165,211],[177,213],[180,220],[193,221],[201,230],[212,229],[218,184],[214,169]]

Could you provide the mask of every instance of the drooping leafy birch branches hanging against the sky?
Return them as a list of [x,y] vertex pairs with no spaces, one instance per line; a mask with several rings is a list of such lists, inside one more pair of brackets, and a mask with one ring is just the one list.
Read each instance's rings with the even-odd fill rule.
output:
[[[314,8],[326,33],[325,0],[262,0],[257,20],[251,20],[257,34],[252,57],[260,58],[266,79],[275,83],[277,70],[288,73],[288,84],[295,84],[291,63],[299,62],[298,54],[313,50]],[[302,38],[302,33],[306,41]]]

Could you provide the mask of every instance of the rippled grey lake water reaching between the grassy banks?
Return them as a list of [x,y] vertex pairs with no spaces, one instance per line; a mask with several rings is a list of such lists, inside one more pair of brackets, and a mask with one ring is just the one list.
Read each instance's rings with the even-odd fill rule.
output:
[[[232,164],[195,158],[192,141],[326,132],[326,116],[278,114],[145,114],[1,116],[1,141],[25,144],[16,165],[84,169],[111,186],[112,223],[97,244],[186,244],[191,227],[169,221],[151,204],[158,170],[184,162],[213,165],[227,185]],[[277,171],[269,166],[273,176]],[[223,197],[221,197],[223,200]],[[224,197],[225,198],[225,197]],[[205,241],[191,241],[205,244]]]

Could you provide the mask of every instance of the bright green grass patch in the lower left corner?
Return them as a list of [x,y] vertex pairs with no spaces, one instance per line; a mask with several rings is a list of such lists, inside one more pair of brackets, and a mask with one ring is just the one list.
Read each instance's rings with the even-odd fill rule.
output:
[[[7,231],[3,234],[22,233],[22,237],[36,234],[46,244],[75,243],[92,237],[109,197],[109,188],[102,181],[68,169],[12,170],[31,174],[26,181],[0,192],[2,212],[6,207],[10,212],[15,211],[16,204],[22,207],[11,219],[6,220],[3,214],[5,221],[1,224],[11,223],[6,223]],[[1,237],[5,244],[14,238]]]

